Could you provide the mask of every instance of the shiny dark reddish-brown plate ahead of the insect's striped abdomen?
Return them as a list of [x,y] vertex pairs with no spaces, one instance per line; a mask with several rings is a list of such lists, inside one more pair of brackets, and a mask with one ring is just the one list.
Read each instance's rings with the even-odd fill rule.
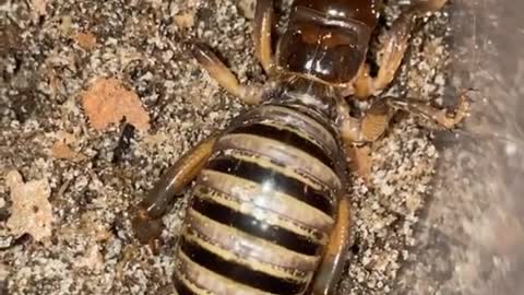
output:
[[298,0],[277,48],[285,71],[342,85],[366,58],[379,0]]

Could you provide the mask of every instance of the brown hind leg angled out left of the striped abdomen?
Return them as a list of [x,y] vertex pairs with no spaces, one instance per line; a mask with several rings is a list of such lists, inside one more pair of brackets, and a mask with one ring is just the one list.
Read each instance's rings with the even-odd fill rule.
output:
[[162,234],[162,216],[175,196],[191,182],[211,156],[215,138],[199,143],[164,173],[159,181],[135,208],[133,231],[142,244],[152,243]]

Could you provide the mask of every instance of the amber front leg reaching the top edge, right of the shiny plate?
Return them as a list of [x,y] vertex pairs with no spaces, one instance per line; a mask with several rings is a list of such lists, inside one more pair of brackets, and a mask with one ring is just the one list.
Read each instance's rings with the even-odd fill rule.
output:
[[379,73],[377,78],[371,78],[369,68],[364,66],[354,85],[357,97],[367,98],[385,88],[393,81],[406,52],[415,20],[428,12],[442,9],[446,2],[448,0],[418,0],[394,21],[379,50]]

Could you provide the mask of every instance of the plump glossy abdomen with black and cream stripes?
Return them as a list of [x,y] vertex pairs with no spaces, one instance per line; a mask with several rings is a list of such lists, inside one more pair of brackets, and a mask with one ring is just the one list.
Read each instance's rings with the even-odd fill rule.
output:
[[177,249],[180,295],[302,294],[334,225],[333,132],[284,106],[242,118],[196,180]]

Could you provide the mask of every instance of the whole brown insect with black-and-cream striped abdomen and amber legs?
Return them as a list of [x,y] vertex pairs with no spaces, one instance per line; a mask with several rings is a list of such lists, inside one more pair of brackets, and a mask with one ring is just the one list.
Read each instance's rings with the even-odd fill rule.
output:
[[[195,180],[176,250],[179,294],[333,294],[350,243],[348,150],[377,140],[398,109],[445,128],[466,115],[464,97],[453,114],[414,98],[373,98],[393,80],[416,17],[445,2],[403,12],[382,44],[377,76],[366,55],[378,0],[295,1],[275,54],[273,1],[259,0],[253,39],[269,76],[263,85],[240,84],[194,44],[209,74],[254,107],[178,160],[134,212],[138,238],[155,239],[168,204]],[[370,102],[364,116],[350,115],[352,99]]]

